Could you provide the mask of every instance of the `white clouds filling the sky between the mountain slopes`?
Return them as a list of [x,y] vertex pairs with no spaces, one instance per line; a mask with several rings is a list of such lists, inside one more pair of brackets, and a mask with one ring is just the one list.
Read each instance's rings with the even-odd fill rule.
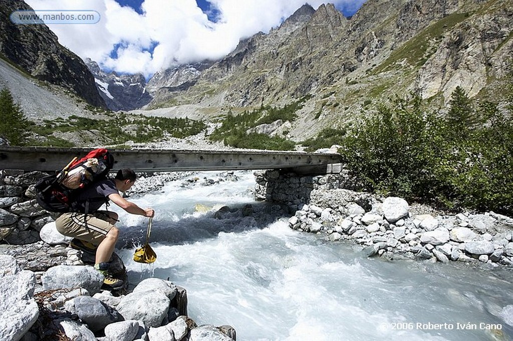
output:
[[[359,8],[365,0],[310,0],[313,8],[334,3]],[[114,0],[26,0],[36,10],[95,10],[94,25],[49,25],[62,45],[121,73],[156,71],[182,63],[219,59],[240,39],[267,33],[305,0],[210,0],[216,21],[209,21],[195,0],[145,0],[139,14]],[[210,12],[209,14],[212,14]]]

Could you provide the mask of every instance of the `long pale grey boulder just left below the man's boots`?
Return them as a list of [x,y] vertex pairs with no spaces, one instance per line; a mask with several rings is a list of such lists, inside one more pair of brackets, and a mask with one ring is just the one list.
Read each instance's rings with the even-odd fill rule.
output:
[[94,294],[100,291],[104,276],[92,266],[57,265],[49,268],[41,280],[43,290],[84,288]]

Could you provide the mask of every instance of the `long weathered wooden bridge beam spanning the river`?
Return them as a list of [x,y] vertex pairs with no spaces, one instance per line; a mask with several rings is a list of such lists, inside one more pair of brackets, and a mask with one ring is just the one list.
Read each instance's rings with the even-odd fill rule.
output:
[[[0,146],[0,169],[52,172],[92,148]],[[299,174],[339,173],[339,154],[274,151],[201,151],[110,149],[114,170],[136,172],[289,169]]]

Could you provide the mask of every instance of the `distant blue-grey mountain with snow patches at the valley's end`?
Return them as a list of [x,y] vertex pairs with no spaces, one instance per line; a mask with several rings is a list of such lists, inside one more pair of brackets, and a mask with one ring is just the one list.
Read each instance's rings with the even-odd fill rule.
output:
[[105,73],[90,58],[86,58],[85,63],[94,76],[98,92],[110,110],[127,111],[137,109],[151,101],[151,96],[146,91],[146,79],[142,74],[118,75],[115,72]]

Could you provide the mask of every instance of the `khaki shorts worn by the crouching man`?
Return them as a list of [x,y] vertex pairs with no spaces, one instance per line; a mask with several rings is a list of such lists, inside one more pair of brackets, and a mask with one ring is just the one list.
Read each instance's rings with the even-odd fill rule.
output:
[[55,220],[55,227],[62,235],[100,244],[107,232],[114,227],[109,220],[109,211],[96,211],[84,219],[83,213],[64,213]]

